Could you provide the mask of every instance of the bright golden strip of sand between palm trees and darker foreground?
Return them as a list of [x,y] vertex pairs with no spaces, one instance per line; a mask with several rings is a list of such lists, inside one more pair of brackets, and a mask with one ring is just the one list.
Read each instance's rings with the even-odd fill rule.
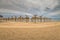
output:
[[43,28],[60,25],[60,22],[41,22],[41,23],[24,23],[24,22],[2,22],[0,28]]

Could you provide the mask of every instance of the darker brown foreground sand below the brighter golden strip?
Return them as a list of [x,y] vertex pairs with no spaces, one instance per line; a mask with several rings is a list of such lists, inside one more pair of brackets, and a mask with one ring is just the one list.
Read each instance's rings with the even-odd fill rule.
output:
[[60,26],[0,28],[0,40],[60,40]]

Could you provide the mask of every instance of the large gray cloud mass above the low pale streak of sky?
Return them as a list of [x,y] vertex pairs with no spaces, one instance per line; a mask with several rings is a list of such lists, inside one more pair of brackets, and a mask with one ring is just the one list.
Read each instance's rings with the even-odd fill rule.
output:
[[0,9],[8,9],[9,12],[14,10],[28,14],[49,16],[51,13],[54,14],[55,11],[58,14],[59,8],[60,0],[0,0]]

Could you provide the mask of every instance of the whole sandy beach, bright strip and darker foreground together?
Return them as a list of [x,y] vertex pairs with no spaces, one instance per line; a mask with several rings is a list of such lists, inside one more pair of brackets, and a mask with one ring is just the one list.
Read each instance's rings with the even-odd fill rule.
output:
[[60,40],[60,22],[3,22],[0,40]]

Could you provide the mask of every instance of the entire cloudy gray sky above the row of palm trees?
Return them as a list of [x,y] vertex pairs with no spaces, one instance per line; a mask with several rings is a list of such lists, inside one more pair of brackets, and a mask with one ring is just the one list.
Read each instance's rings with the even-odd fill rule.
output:
[[60,0],[0,0],[0,15],[60,18]]

